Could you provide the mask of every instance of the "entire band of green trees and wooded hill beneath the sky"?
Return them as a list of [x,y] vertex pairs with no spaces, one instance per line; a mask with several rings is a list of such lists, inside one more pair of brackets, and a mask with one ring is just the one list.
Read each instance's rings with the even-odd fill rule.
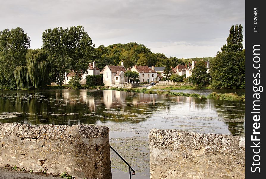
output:
[[[169,79],[171,67],[208,59],[210,76],[201,74],[206,69],[203,64],[197,63],[198,67],[190,78],[193,84],[202,85],[201,82],[208,81],[206,79],[210,77],[210,84],[215,88],[244,88],[245,49],[242,45],[242,31],[241,24],[232,26],[227,44],[215,58],[185,59],[173,56],[167,58],[163,53],[152,53],[145,45],[136,42],[107,47],[100,45],[95,48],[82,26],[47,29],[42,34],[42,49],[29,50],[30,38],[23,29],[5,29],[0,32],[0,90],[29,87],[43,89],[51,82],[62,85],[65,72],[75,72],[75,81],[79,81],[79,76],[86,73],[88,64],[92,61],[96,61],[100,70],[105,65],[121,65],[122,60],[125,68],[134,65],[165,67],[167,75],[164,79]],[[201,81],[197,81],[199,79]]]

